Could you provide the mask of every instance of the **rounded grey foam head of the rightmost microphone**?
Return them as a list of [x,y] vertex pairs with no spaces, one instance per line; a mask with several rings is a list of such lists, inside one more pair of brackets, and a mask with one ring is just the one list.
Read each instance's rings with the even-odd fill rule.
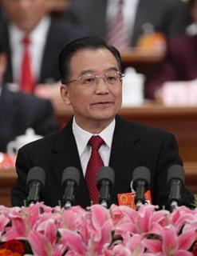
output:
[[168,169],[167,172],[167,184],[170,184],[172,179],[179,179],[182,183],[185,180],[185,172],[182,166],[173,165]]

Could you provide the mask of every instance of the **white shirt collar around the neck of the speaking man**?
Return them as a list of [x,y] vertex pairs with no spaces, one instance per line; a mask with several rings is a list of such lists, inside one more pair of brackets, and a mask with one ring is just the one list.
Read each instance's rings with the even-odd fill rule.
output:
[[104,140],[105,145],[108,146],[109,149],[111,149],[115,123],[116,122],[114,118],[112,122],[104,130],[100,132],[100,134],[91,134],[87,130],[84,130],[80,126],[78,126],[75,118],[73,118],[73,134],[77,142],[77,149],[79,152],[79,156],[81,157],[81,154],[84,152],[89,142],[89,139],[93,135],[99,135]]

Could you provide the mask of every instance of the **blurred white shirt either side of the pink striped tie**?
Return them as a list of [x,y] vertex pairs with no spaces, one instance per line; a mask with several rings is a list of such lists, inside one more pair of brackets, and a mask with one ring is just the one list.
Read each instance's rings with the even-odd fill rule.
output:
[[[117,14],[120,0],[108,0],[107,6],[107,22],[112,20],[112,18]],[[123,4],[123,14],[124,14],[124,26],[128,31],[128,35],[132,36],[132,30],[136,18],[136,10],[139,0],[124,0]]]

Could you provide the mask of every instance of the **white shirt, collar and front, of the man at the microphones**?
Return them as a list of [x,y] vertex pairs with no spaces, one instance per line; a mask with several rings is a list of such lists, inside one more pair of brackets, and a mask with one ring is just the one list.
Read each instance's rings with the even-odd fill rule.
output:
[[100,134],[91,134],[86,130],[83,130],[77,125],[75,118],[73,118],[73,134],[77,142],[77,150],[81,161],[81,167],[85,176],[85,171],[91,155],[91,146],[88,145],[89,139],[93,135],[99,135],[104,140],[104,144],[100,146],[99,154],[104,162],[104,166],[108,166],[111,149],[112,149],[112,138],[115,129],[115,119],[100,132]]

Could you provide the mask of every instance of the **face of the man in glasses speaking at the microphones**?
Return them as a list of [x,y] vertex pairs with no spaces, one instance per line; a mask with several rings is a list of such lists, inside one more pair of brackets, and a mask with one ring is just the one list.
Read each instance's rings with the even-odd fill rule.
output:
[[[71,58],[70,79],[81,75],[103,76],[108,72],[120,71],[116,58],[107,49],[81,50]],[[109,85],[100,78],[94,86],[71,82],[61,86],[61,96],[67,105],[72,105],[76,121],[85,130],[107,126],[120,110],[122,83]]]

